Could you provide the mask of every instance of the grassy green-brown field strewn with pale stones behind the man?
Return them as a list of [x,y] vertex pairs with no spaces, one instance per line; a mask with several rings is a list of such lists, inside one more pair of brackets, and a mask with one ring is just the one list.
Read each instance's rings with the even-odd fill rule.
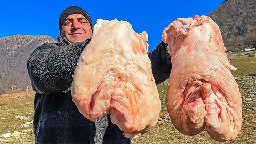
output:
[[[231,57],[231,56],[230,56]],[[256,57],[238,57],[232,55],[230,63],[237,67],[233,75],[238,83],[243,98],[243,123],[238,137],[229,143],[256,143]],[[161,114],[153,130],[133,139],[132,143],[221,143],[209,137],[203,131],[193,137],[181,134],[175,129],[166,111],[166,92],[168,81],[159,84]],[[34,93],[0,95],[0,143],[35,143],[33,132],[17,137],[3,138],[7,132],[31,129],[32,125],[22,128],[22,124],[33,121]],[[19,116],[30,116],[20,119]],[[222,142],[224,143],[224,142]]]

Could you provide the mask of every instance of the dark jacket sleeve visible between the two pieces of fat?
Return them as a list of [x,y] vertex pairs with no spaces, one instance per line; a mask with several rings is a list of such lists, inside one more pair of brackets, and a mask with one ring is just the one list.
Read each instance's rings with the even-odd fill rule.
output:
[[148,52],[152,63],[152,73],[156,84],[164,82],[170,77],[172,63],[167,52],[167,44],[161,41],[153,50]]

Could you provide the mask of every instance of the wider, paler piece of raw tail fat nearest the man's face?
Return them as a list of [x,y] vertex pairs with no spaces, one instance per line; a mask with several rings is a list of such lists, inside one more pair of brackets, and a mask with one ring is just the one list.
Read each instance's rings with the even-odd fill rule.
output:
[[71,94],[81,114],[91,121],[111,114],[127,138],[153,129],[159,118],[147,39],[126,21],[98,19],[74,72]]

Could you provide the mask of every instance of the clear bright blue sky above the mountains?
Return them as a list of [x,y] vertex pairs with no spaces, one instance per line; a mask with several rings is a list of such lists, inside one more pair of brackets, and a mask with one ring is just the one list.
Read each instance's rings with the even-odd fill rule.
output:
[[146,31],[149,50],[162,38],[163,29],[177,18],[207,15],[223,0],[170,1],[28,1],[0,0],[0,38],[11,35],[59,35],[59,15],[68,6],[85,9],[95,25],[98,18],[125,20],[137,33]]

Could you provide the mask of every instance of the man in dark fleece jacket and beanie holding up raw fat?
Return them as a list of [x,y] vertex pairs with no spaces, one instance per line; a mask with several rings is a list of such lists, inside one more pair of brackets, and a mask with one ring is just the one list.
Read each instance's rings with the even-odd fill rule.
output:
[[[79,55],[90,42],[93,25],[81,7],[67,7],[59,17],[59,43],[36,48],[27,61],[33,90],[36,143],[131,143],[111,123],[110,115],[92,122],[72,102],[70,87]],[[170,75],[171,61],[161,42],[148,53],[156,83]]]

